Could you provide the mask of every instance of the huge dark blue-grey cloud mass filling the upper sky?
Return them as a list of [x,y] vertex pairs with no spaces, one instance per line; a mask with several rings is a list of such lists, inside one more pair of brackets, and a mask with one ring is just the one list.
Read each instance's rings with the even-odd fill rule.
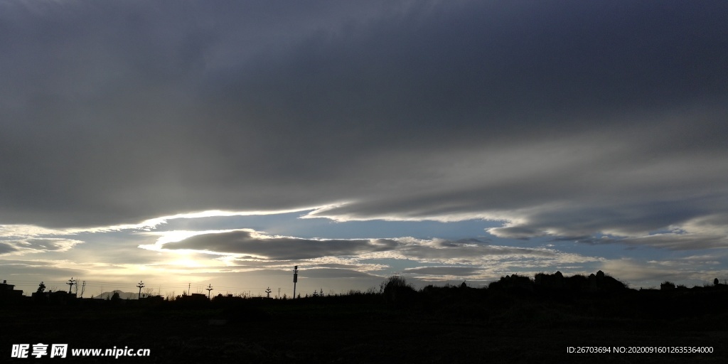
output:
[[0,223],[689,223],[728,207],[726,23],[724,1],[4,1]]

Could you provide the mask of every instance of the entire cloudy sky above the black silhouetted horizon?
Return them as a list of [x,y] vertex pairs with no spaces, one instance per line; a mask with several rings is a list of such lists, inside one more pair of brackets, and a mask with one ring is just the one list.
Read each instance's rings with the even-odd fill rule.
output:
[[0,0],[0,84],[26,295],[728,279],[726,1]]

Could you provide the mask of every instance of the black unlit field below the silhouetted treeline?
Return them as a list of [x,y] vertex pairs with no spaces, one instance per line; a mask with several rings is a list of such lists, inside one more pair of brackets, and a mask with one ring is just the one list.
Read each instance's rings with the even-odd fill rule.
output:
[[[77,301],[4,306],[12,363],[726,363],[726,290],[534,293],[435,288],[298,300]],[[12,344],[69,357],[8,359]],[[151,349],[70,357],[71,349]],[[712,347],[712,354],[568,354],[567,347]]]

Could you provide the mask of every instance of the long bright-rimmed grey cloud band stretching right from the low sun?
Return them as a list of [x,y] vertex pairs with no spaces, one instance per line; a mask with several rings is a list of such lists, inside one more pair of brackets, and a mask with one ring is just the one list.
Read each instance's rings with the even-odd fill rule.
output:
[[[149,250],[195,250],[228,256],[219,258],[235,269],[264,269],[305,265],[315,269],[374,272],[390,268],[391,260],[470,266],[563,266],[600,258],[564,253],[550,248],[519,248],[478,241],[395,239],[317,240],[270,237],[252,230],[199,234],[179,242],[143,245]],[[389,259],[381,264],[381,259]]]

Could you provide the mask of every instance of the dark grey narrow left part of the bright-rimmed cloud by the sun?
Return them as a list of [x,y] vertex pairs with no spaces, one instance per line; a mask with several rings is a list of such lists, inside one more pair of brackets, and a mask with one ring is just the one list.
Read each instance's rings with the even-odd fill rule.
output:
[[295,237],[261,237],[250,231],[200,234],[181,242],[162,245],[165,249],[207,250],[242,254],[272,260],[312,259],[325,256],[357,256],[393,250],[393,240],[309,240]]

